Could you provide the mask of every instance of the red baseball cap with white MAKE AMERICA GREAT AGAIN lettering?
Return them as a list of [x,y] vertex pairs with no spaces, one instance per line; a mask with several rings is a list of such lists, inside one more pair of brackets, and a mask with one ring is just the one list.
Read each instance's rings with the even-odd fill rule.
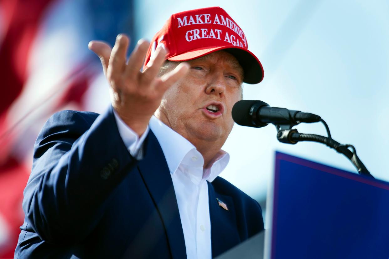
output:
[[244,70],[245,83],[255,84],[263,79],[263,67],[247,49],[242,29],[220,7],[209,7],[173,14],[152,38],[144,63],[150,60],[156,47],[168,49],[166,59],[187,61],[217,50],[235,56]]

